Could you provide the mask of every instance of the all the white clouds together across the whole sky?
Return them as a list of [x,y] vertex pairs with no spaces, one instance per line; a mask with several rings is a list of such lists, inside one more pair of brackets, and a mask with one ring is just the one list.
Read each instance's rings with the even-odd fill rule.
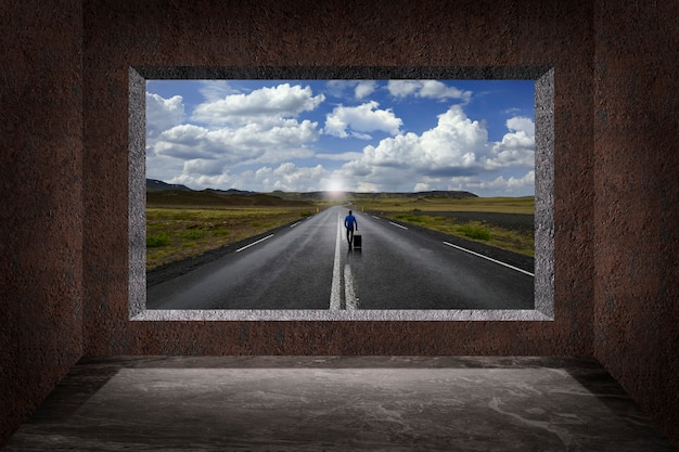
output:
[[[357,99],[376,89],[374,82],[361,80],[337,81],[334,88]],[[483,196],[534,193],[535,124],[530,118],[511,117],[504,135],[489,141],[485,121],[464,113],[462,105],[470,92],[426,80],[393,80],[389,91],[394,96],[462,102],[438,115],[431,129],[405,133],[402,120],[374,101],[336,106],[325,116],[324,129],[319,129],[318,122],[303,120],[308,115],[299,116],[316,109],[323,94],[287,83],[234,94],[225,80],[204,82],[201,92],[206,102],[194,112],[192,118],[200,119],[195,124],[184,124],[181,96],[146,93],[148,175],[194,189],[261,192],[341,186],[367,192],[467,190]],[[313,144],[322,148],[320,153],[311,147],[321,133],[369,139],[375,131],[392,137],[375,140],[361,152],[325,147],[324,141]]]

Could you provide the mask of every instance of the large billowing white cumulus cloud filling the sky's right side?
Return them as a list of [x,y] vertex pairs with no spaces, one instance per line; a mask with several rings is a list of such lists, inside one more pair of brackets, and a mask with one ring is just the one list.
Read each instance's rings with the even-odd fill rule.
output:
[[[490,142],[485,122],[470,119],[460,105],[452,105],[438,116],[436,127],[422,134],[399,134],[376,146],[366,146],[362,155],[345,164],[341,172],[346,180],[368,179],[381,190],[432,190],[462,180],[478,184],[489,171],[534,166],[533,121],[515,117],[507,126],[510,132],[503,140]],[[496,180],[497,186],[518,183],[512,178]],[[483,189],[489,186],[486,183]]]

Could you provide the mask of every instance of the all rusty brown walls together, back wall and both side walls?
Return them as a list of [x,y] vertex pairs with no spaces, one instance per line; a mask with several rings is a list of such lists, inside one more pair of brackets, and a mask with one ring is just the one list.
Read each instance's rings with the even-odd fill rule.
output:
[[[679,443],[677,8],[3,1],[0,444],[142,353],[595,356]],[[128,321],[128,68],[180,65],[554,67],[555,321]]]

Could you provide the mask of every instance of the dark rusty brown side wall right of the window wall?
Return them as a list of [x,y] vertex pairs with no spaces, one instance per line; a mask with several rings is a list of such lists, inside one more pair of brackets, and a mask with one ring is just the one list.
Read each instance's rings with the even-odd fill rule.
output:
[[679,3],[594,17],[594,356],[679,442]]

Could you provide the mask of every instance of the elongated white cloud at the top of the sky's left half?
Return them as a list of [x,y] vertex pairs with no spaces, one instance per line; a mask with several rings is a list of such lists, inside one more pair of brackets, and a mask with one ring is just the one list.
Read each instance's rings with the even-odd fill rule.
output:
[[313,95],[311,88],[290,86],[264,87],[248,94],[229,94],[223,99],[198,105],[192,120],[209,125],[242,125],[247,122],[278,122],[312,111],[325,100]]

